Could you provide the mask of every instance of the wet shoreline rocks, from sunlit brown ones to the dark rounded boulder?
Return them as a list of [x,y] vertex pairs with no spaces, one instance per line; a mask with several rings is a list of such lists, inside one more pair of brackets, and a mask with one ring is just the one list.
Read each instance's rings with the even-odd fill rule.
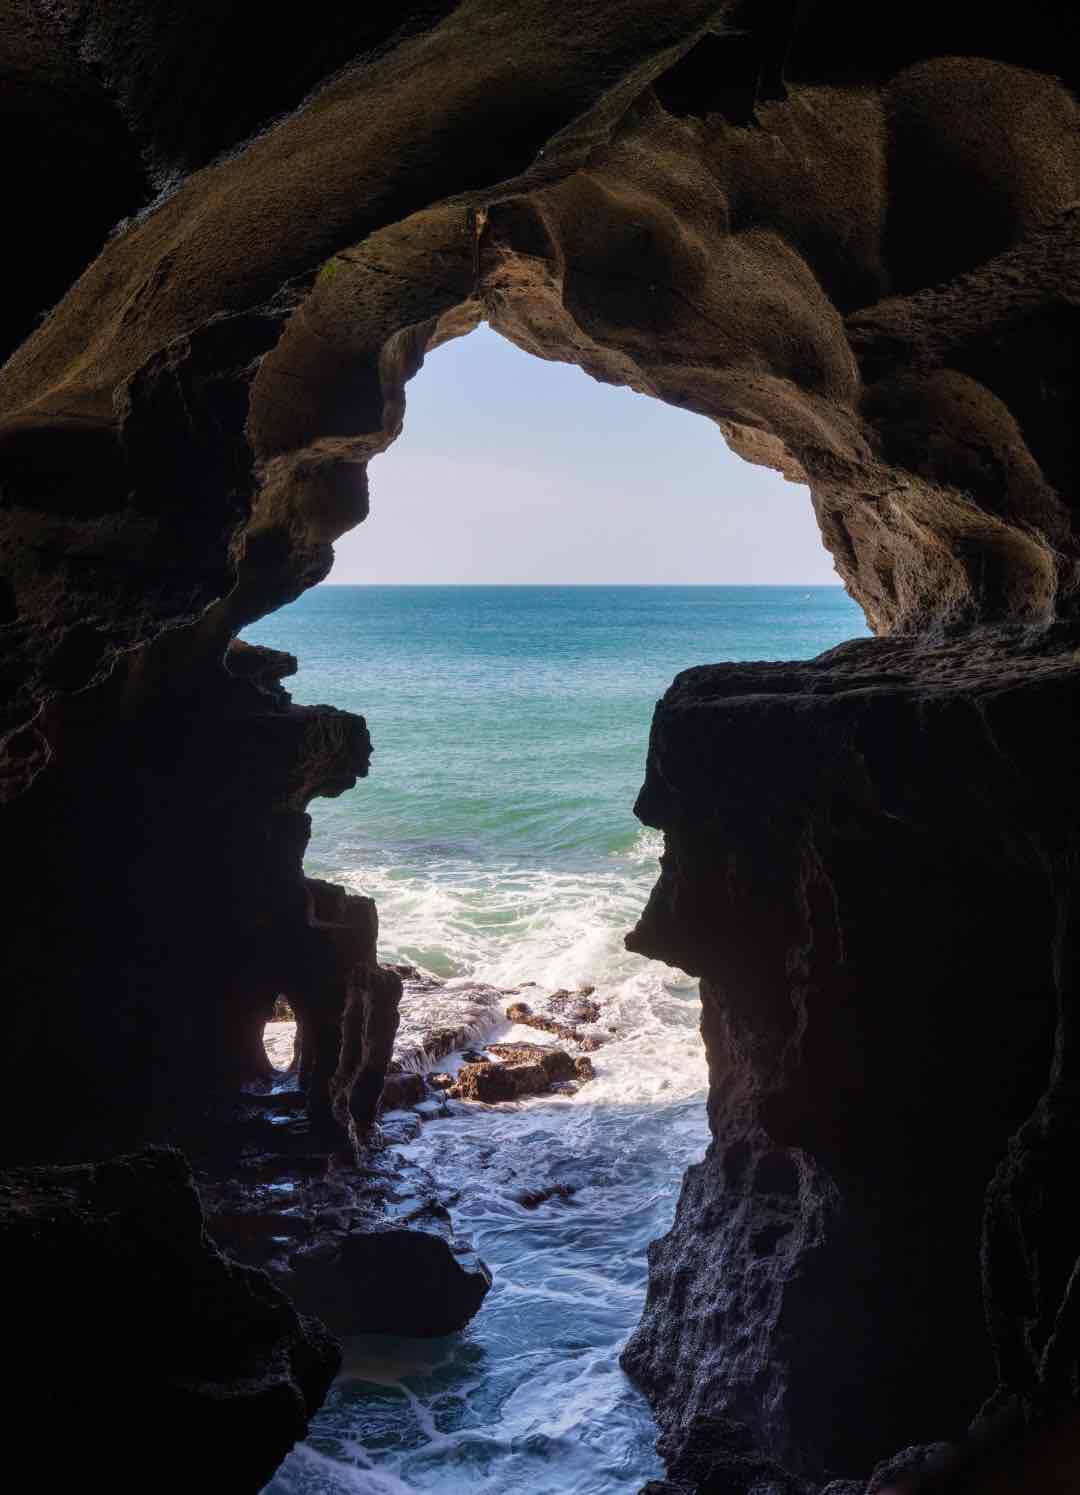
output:
[[[211,1238],[265,1269],[302,1313],[337,1335],[429,1338],[464,1328],[491,1272],[455,1232],[437,1181],[395,1144],[453,1115],[455,1103],[573,1094],[594,1073],[583,1051],[610,1033],[591,988],[543,994],[531,984],[500,988],[386,969],[402,982],[401,1027],[378,1120],[356,1154],[328,1148],[307,1115],[296,1023],[278,1002],[266,1026],[275,1075],[245,1090],[233,1118],[242,1139],[230,1160],[218,1166],[203,1156],[196,1172]],[[559,1044],[524,1038],[522,1029]]]

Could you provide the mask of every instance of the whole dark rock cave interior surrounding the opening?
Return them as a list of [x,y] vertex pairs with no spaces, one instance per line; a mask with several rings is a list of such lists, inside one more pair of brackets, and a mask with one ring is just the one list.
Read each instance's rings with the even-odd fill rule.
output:
[[[238,635],[485,320],[806,483],[874,632],[687,670],[643,745],[627,937],[700,981],[712,1133],[624,1351],[652,1489],[1073,1488],[1074,9],[16,0],[0,36],[18,1423],[63,1408],[66,1479],[168,1446],[162,1488],[254,1492],[346,1280],[375,1331],[410,1253],[420,1328],[483,1298],[368,1154],[369,1227],[293,1293],[230,1186],[320,1180],[334,1233],[401,993],[374,901],[302,864],[366,724]],[[289,1156],[250,1100],[280,994]]]

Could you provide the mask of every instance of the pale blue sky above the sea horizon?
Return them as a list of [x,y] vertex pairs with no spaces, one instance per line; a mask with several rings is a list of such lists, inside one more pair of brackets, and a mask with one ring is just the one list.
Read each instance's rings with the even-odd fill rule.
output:
[[522,353],[489,327],[428,354],[368,469],[334,583],[838,583],[809,493],[720,429]]

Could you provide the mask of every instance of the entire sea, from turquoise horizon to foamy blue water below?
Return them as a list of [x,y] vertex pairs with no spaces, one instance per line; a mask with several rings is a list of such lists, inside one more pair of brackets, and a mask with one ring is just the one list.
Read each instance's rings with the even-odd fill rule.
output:
[[[450,1340],[350,1344],[272,1495],[631,1495],[658,1473],[618,1351],[706,1129],[696,988],[622,949],[661,849],[631,813],[652,706],[688,665],[865,632],[839,588],[610,586],[323,586],[247,631],[298,655],[295,700],[368,719],[371,776],[316,801],[307,867],[375,896],[383,955],[595,985],[616,1030],[573,1099],[458,1108],[410,1144],[495,1286]],[[546,1183],[574,1193],[516,1200]]]

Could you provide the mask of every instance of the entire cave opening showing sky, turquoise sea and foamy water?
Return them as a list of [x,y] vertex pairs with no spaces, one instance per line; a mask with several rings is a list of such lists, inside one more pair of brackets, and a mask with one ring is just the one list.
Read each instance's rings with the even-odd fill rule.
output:
[[[365,1341],[320,1446],[344,1464],[389,1383],[380,1462],[404,1488],[455,1488],[476,1459],[528,1489],[561,1447],[571,1491],[616,1444],[637,1480],[657,1429],[618,1350],[708,1141],[696,982],[624,948],[661,849],[633,818],[652,706],[702,659],[806,656],[866,626],[805,489],[711,422],[486,327],[428,356],[369,477],[329,585],[244,637],[298,658],[295,700],[371,730],[369,777],[313,806],[305,872],[375,900],[380,961],[405,981],[381,1126],[458,1199],[494,1286],[468,1343],[402,1366]],[[278,1018],[278,1072],[283,1036]],[[540,1049],[568,1055],[553,1084],[501,1090]],[[447,1102],[450,1081],[473,1088]],[[275,1495],[304,1488],[304,1458]]]

